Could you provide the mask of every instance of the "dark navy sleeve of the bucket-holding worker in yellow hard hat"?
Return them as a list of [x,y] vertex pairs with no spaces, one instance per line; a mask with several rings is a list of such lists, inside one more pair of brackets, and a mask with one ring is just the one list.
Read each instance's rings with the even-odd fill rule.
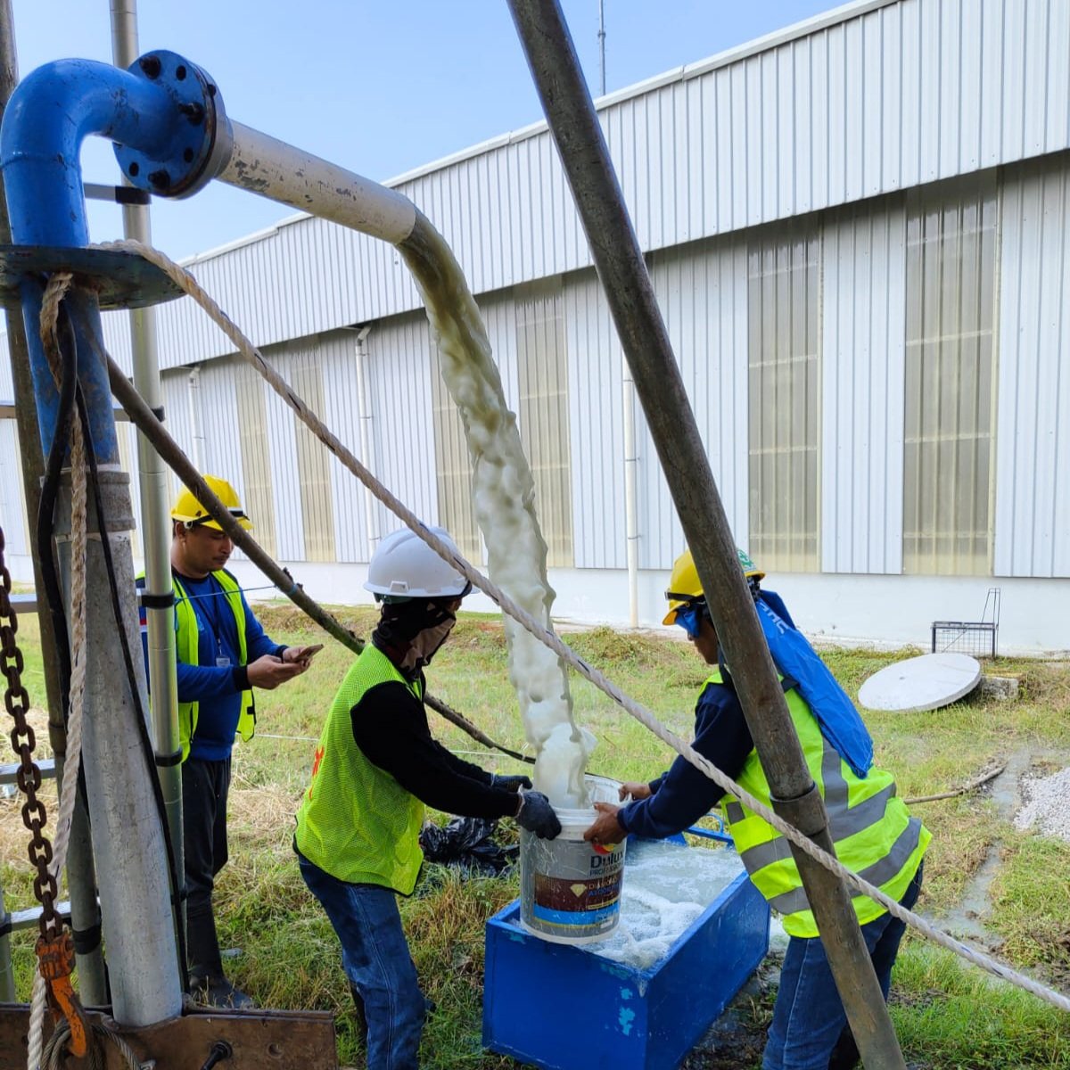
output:
[[[709,684],[699,697],[691,746],[733,779],[754,749],[735,692]],[[652,785],[653,786],[653,785]],[[724,793],[684,758],[677,758],[647,799],[629,802],[617,817],[628,832],[662,839],[689,828],[720,801]]]

